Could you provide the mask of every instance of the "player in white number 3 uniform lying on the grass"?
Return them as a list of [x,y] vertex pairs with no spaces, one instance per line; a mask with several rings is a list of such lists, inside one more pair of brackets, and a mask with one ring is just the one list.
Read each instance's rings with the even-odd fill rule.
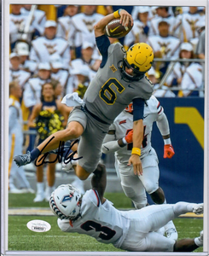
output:
[[52,192],[49,206],[62,231],[85,234],[132,252],[191,252],[203,246],[203,231],[200,237],[179,241],[153,232],[180,214],[202,213],[203,204],[178,202],[119,211],[103,197],[106,183],[106,168],[99,164],[91,178],[92,189],[83,197],[71,184],[61,185]]

